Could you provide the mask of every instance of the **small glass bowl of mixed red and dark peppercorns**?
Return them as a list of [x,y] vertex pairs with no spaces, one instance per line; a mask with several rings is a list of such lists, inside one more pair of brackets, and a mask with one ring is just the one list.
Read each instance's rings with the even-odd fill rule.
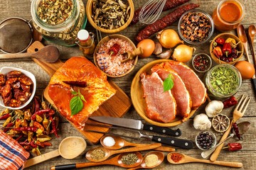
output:
[[205,53],[198,53],[192,59],[192,66],[196,72],[207,72],[212,65],[210,56]]

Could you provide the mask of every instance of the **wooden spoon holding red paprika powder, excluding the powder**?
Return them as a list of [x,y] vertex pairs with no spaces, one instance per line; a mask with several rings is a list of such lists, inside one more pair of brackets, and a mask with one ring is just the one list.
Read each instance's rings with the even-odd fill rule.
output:
[[[179,156],[181,156],[181,160],[174,162],[174,160],[171,159],[172,154],[178,154]],[[230,166],[230,167],[235,167],[235,168],[241,168],[242,167],[241,162],[222,162],[222,161],[211,162],[210,160],[206,160],[206,159],[196,159],[196,158],[193,158],[193,157],[188,157],[186,154],[181,154],[181,153],[178,153],[178,152],[169,153],[167,155],[167,160],[171,164],[186,164],[186,163],[189,163],[189,162],[200,162],[200,163],[205,163],[205,164],[216,164],[216,165],[220,165],[220,166]]]

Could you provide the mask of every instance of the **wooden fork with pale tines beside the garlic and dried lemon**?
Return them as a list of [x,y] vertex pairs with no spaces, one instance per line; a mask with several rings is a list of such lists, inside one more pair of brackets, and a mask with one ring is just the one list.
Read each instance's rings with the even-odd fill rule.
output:
[[[233,119],[231,120],[230,126],[228,127],[228,130],[225,131],[225,133],[223,134],[223,137],[221,137],[220,142],[222,142],[228,137],[228,134],[230,133],[233,123],[235,123],[238,119],[242,118],[242,116],[245,114],[247,106],[250,103],[250,99],[250,97],[248,98],[247,96],[242,95],[238,103],[238,106],[236,106],[235,110],[233,111]],[[218,155],[220,154],[223,145],[224,143],[222,143],[215,149],[213,154],[210,156],[210,161],[214,162],[218,158]]]

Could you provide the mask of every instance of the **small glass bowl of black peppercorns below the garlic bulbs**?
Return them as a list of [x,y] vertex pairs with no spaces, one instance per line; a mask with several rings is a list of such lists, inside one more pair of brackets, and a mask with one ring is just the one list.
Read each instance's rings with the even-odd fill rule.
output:
[[215,147],[216,137],[213,132],[203,131],[196,135],[196,146],[201,150],[209,150]]

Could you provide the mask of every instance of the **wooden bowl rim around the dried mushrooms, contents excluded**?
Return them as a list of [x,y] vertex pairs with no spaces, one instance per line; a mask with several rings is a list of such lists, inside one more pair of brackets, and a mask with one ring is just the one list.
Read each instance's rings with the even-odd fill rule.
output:
[[130,16],[127,20],[126,23],[124,23],[123,26],[116,28],[116,29],[105,29],[105,28],[101,28],[100,26],[97,26],[97,24],[95,23],[95,21],[92,18],[92,1],[93,0],[88,0],[87,4],[86,4],[86,15],[87,15],[87,19],[90,22],[90,24],[97,30],[100,30],[102,33],[118,33],[121,30],[124,30],[125,28],[127,28],[127,26],[129,26],[129,24],[132,22],[132,18],[134,16],[134,4],[132,0],[127,0],[130,6]]

